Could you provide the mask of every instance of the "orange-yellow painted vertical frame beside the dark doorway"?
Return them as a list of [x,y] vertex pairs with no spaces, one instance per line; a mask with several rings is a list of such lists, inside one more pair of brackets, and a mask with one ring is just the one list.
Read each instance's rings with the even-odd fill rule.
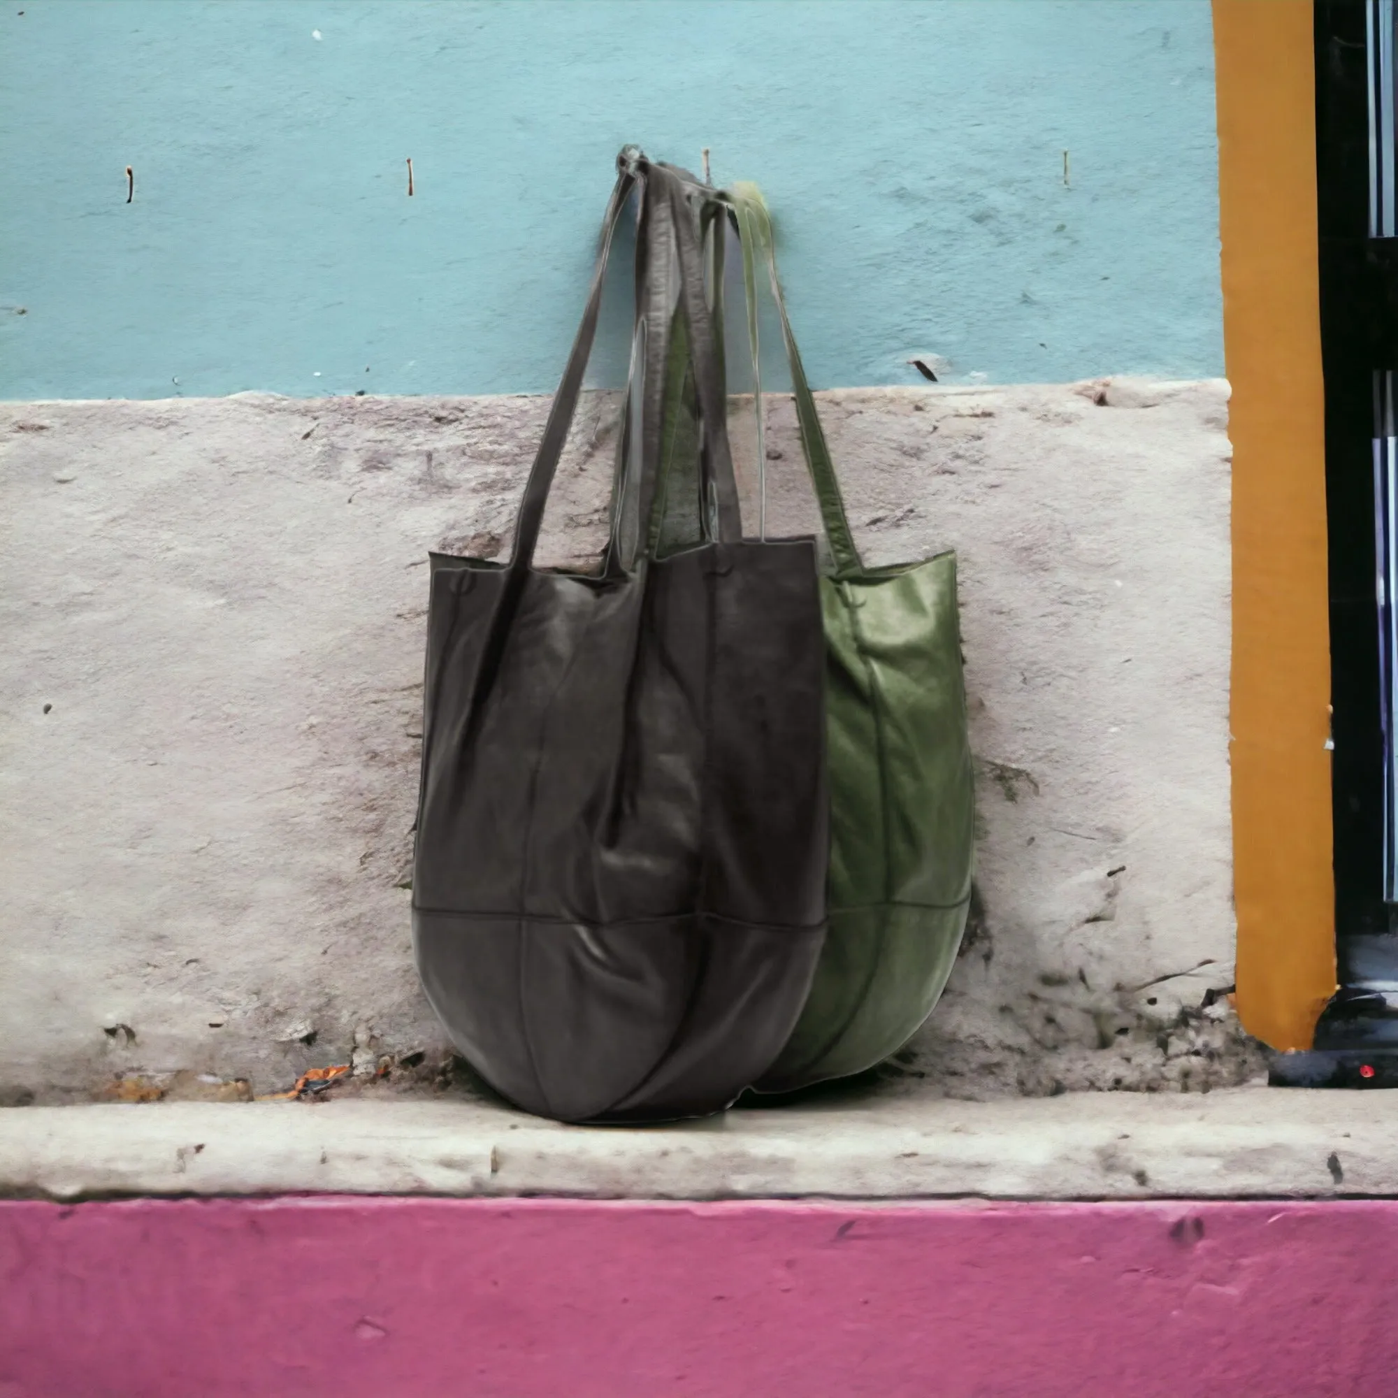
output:
[[1311,0],[1213,0],[1213,48],[1237,1009],[1274,1048],[1309,1048],[1335,990]]

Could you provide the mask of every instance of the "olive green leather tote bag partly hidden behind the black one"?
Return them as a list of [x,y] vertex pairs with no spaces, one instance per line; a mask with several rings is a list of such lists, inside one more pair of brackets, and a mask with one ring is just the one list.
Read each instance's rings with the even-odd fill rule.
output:
[[[761,405],[756,268],[765,264],[791,365],[797,418],[828,542],[822,566],[829,923],[795,1030],[758,1082],[787,1092],[861,1072],[931,1014],[966,925],[973,857],[956,555],[865,568],[777,278],[755,186],[721,196],[742,240]],[[758,460],[765,459],[758,411]]]

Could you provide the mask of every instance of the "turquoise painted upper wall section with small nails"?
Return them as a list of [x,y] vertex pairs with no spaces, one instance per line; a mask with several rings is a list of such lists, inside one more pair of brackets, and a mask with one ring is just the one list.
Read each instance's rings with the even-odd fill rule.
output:
[[1206,0],[0,24],[3,397],[548,390],[626,141],[765,186],[819,384],[1222,372]]

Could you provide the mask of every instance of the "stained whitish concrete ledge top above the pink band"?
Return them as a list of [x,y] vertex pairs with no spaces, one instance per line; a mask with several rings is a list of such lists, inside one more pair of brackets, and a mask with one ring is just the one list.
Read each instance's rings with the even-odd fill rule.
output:
[[1398,1194],[1392,1093],[857,1093],[668,1127],[429,1099],[0,1111],[0,1194],[1145,1199]]

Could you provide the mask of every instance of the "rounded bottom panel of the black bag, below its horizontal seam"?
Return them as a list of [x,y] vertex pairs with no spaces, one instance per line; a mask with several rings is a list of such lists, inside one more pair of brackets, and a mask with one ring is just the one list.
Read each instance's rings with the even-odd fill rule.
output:
[[412,914],[418,973],[463,1057],[561,1121],[721,1111],[781,1051],[823,939],[702,913],[601,927]]

